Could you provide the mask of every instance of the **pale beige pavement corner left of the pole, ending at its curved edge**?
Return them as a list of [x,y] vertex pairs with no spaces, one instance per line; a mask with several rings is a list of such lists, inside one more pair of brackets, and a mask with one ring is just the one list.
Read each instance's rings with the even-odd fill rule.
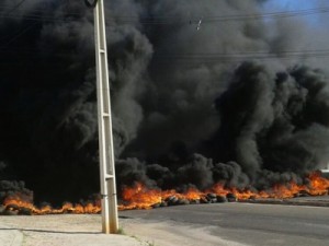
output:
[[126,235],[101,233],[100,215],[0,216],[1,246],[140,246]]

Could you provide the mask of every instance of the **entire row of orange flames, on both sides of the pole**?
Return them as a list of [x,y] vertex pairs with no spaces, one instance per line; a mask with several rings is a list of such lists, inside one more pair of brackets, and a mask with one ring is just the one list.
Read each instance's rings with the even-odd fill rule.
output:
[[[226,200],[232,199],[234,201],[243,201],[248,199],[273,198],[286,199],[295,197],[296,195],[306,196],[322,196],[328,195],[329,179],[321,177],[320,173],[311,173],[307,177],[308,184],[298,185],[295,181],[288,184],[274,185],[269,190],[257,191],[253,189],[238,189],[227,188],[223,184],[215,184],[212,188],[201,191],[196,188],[189,188],[185,192],[178,192],[174,189],[160,190],[151,189],[137,183],[133,187],[125,187],[122,191],[122,200],[120,202],[120,210],[129,209],[151,209],[156,207],[166,207],[170,204],[188,204],[200,202],[213,202],[218,199]],[[93,202],[70,203],[66,202],[61,208],[54,209],[50,206],[41,208],[35,207],[32,202],[25,201],[18,194],[16,196],[8,197],[3,201],[3,206],[8,211],[23,210],[23,214],[61,214],[61,213],[100,213],[100,200]]]

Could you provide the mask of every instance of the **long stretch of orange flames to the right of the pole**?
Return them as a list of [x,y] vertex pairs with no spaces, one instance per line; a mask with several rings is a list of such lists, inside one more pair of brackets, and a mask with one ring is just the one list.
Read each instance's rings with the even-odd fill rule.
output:
[[211,189],[205,191],[190,188],[185,192],[177,192],[175,190],[157,190],[149,189],[143,184],[137,183],[134,187],[126,187],[123,190],[124,202],[120,206],[121,210],[128,209],[151,209],[158,206],[166,206],[175,199],[179,201],[198,201],[211,202],[213,197],[231,197],[236,200],[274,198],[286,199],[297,195],[324,196],[329,191],[329,179],[321,177],[319,172],[311,173],[308,177],[309,184],[298,185],[291,181],[286,185],[274,185],[270,190],[254,191],[252,189],[226,188],[223,184],[215,184]]

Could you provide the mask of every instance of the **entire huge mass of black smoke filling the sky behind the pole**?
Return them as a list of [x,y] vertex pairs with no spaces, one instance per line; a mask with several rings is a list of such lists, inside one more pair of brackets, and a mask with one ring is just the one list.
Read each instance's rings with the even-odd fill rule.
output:
[[[29,195],[14,180],[36,200],[98,192],[93,13],[82,0],[19,2],[0,5],[0,198]],[[263,2],[105,2],[120,188],[266,188],[329,161],[326,65],[280,57],[316,31],[296,19],[206,21]],[[208,59],[259,50],[276,58]]]

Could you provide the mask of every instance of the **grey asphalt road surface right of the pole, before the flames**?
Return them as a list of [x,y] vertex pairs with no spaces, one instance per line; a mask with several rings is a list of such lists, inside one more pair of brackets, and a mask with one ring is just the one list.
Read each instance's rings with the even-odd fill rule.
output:
[[[168,223],[171,233],[175,225],[185,225],[185,230],[201,231],[193,245],[216,245],[207,242],[208,236],[216,236],[234,245],[329,245],[329,208],[216,203],[160,208],[147,211],[123,211],[122,218]],[[195,231],[195,229],[197,229]],[[168,229],[162,229],[168,230]],[[146,232],[147,233],[147,232]],[[189,237],[189,232],[185,236]],[[151,235],[157,245],[157,235]],[[149,237],[149,238],[150,238]],[[161,244],[160,244],[161,245]],[[168,244],[170,245],[170,243]],[[172,242],[171,245],[175,245]],[[188,244],[186,244],[188,245]],[[192,245],[192,244],[191,244]],[[218,244],[217,244],[218,245]]]

